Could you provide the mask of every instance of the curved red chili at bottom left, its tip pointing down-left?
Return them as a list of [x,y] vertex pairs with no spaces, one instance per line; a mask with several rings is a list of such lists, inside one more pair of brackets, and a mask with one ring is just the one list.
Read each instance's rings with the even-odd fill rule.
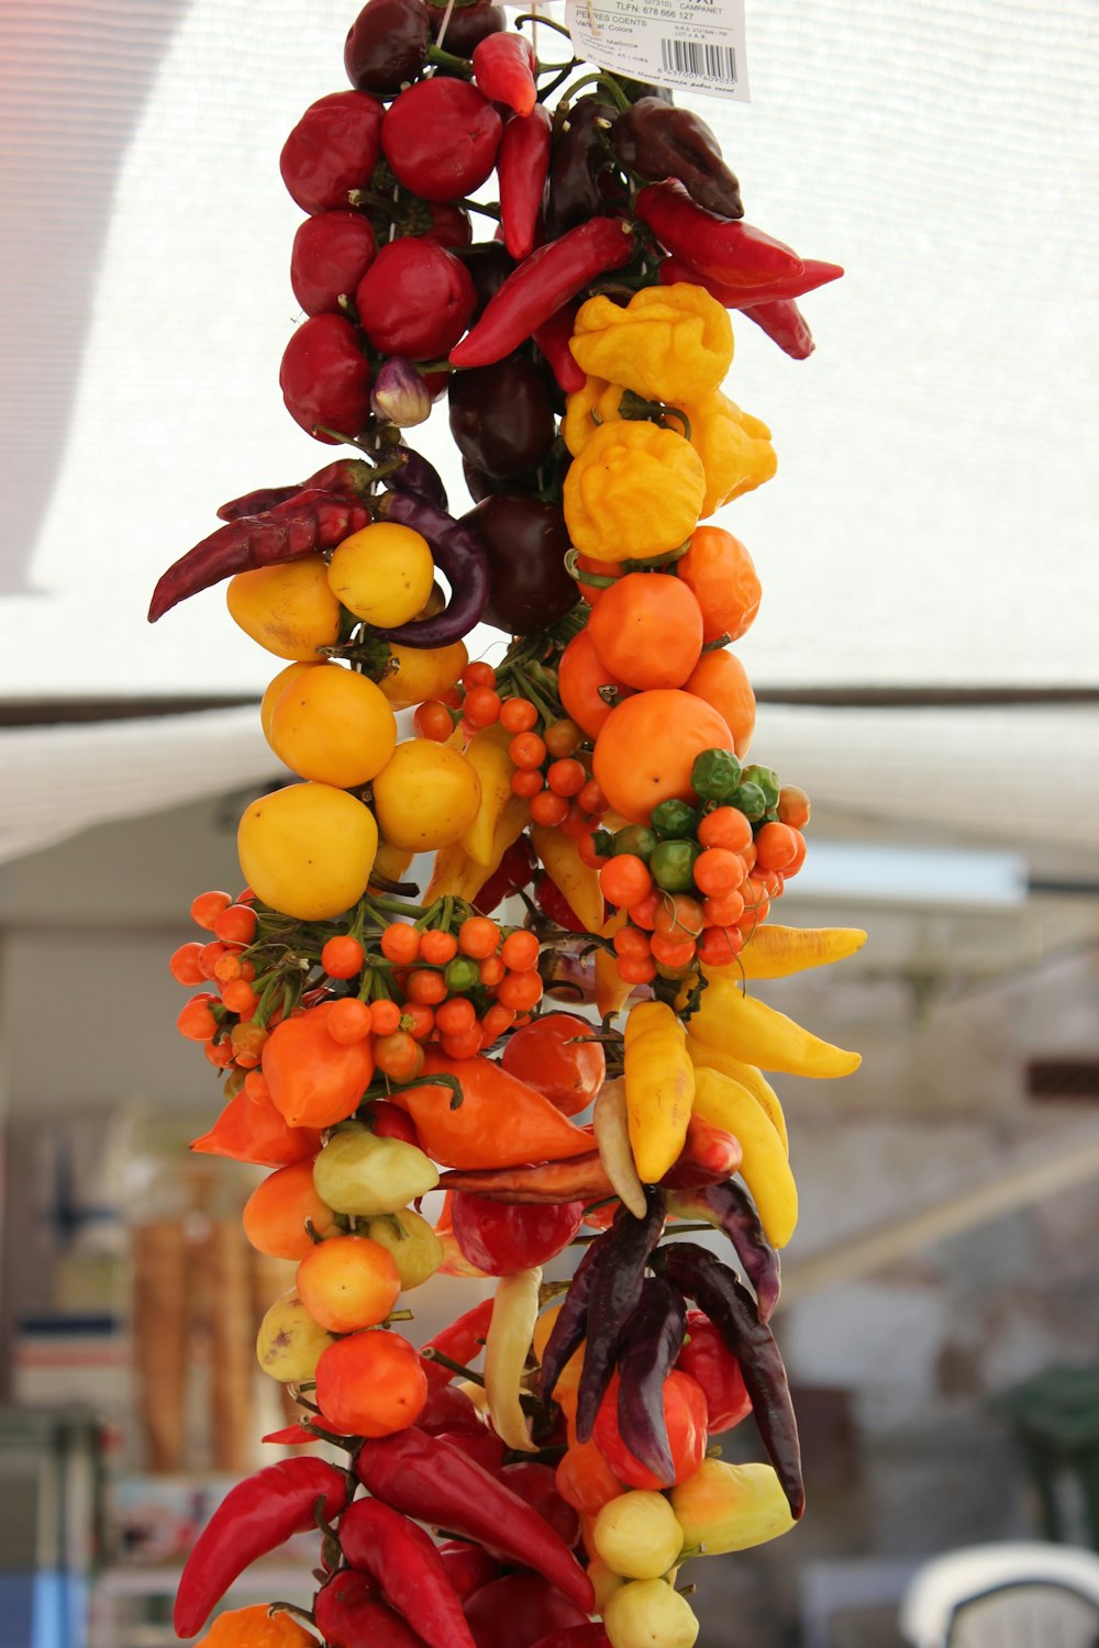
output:
[[173,1613],[176,1636],[198,1636],[234,1579],[292,1534],[308,1533],[318,1506],[331,1521],[346,1503],[348,1478],[323,1458],[287,1458],[239,1482],[186,1559]]

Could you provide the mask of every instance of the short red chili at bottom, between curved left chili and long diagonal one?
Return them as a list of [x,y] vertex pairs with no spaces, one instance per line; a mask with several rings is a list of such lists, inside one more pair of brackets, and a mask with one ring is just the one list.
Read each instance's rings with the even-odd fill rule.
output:
[[432,1648],[475,1648],[435,1541],[407,1516],[381,1500],[354,1500],[339,1518],[339,1546]]

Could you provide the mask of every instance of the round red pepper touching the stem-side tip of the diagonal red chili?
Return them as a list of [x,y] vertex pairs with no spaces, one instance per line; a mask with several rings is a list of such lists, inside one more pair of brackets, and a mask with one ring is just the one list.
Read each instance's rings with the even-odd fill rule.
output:
[[354,302],[376,349],[430,361],[447,354],[466,330],[476,292],[458,259],[437,241],[404,236],[382,246]]

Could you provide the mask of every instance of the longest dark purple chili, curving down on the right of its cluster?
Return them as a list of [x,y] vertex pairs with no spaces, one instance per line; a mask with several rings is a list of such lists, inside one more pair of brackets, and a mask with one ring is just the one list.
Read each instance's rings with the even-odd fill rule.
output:
[[806,1508],[797,1421],[771,1328],[760,1322],[755,1300],[737,1274],[705,1248],[676,1241],[652,1254],[652,1267],[705,1310],[740,1365],[751,1412],[783,1483],[794,1518]]

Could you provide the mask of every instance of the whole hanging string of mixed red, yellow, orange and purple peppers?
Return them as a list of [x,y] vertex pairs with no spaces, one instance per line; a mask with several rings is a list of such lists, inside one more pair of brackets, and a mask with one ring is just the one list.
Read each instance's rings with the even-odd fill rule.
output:
[[[709,127],[562,33],[362,8],[351,89],[280,162],[305,318],[278,382],[351,453],[222,504],[150,606],[227,582],[293,775],[171,957],[224,1091],[193,1149],[267,1170],[246,1233],[297,1266],[257,1355],[300,1419],[265,1440],[333,1454],[257,1472],[196,1543],[188,1638],[321,1536],[311,1602],[221,1613],[211,1648],[690,1648],[682,1566],[804,1506],[768,1078],[858,1056],[755,981],[863,934],[768,920],[809,799],[748,760],[760,580],[712,517],[776,468],[725,394],[730,311],[804,359],[799,298],[842,270],[745,222]],[[460,514],[407,445],[442,399]],[[437,1274],[491,1297],[417,1350]],[[722,1462],[748,1414],[766,1460]]]

